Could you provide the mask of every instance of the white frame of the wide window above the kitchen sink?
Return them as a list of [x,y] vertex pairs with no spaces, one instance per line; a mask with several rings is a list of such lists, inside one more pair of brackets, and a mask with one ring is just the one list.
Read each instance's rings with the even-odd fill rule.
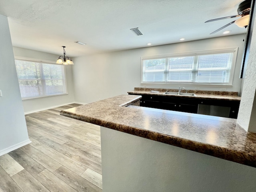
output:
[[[188,81],[166,81],[166,82],[144,82],[143,81],[143,61],[151,60],[151,59],[164,59],[164,58],[174,58],[174,57],[184,57],[184,56],[200,56],[200,55],[209,55],[209,54],[224,54],[224,53],[233,53],[232,64],[230,68],[230,78],[228,83],[197,83],[197,82],[188,82]],[[142,56],[141,57],[141,68],[140,68],[140,84],[141,85],[192,85],[192,86],[213,86],[213,87],[232,87],[234,80],[234,72],[236,67],[236,59],[238,54],[238,47],[232,48],[222,48],[222,49],[214,49],[214,50],[200,50],[193,52],[182,52],[175,54],[162,54],[162,55],[154,55],[154,56]]]

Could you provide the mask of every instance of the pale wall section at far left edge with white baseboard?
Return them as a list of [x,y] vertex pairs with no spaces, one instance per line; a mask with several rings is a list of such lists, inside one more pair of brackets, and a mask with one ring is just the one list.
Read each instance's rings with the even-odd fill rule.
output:
[[0,156],[30,143],[7,17],[0,15]]

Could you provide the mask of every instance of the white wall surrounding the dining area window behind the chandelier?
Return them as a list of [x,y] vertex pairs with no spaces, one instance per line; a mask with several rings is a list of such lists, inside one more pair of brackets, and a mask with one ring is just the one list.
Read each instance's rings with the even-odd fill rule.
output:
[[[34,50],[28,50],[18,47],[13,47],[15,58],[31,58],[42,61],[56,62],[59,55],[49,54],[45,52],[39,52]],[[60,49],[61,54],[61,49]],[[66,68],[66,80],[68,87],[68,94],[60,96],[50,96],[44,98],[36,98],[30,100],[23,100],[24,112],[29,113],[41,109],[52,108],[52,106],[60,106],[74,102],[74,84],[73,84],[73,66],[68,65]]]

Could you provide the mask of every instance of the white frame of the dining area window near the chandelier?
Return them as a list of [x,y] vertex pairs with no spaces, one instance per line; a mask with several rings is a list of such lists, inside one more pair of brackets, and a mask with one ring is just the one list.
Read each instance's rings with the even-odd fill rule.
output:
[[[56,62],[54,61],[50,61],[50,60],[36,60],[34,58],[24,58],[24,57],[18,57],[15,56],[14,60],[20,60],[20,61],[26,61],[26,62],[36,62],[36,63],[42,63],[42,64],[53,64],[53,65],[60,65],[60,64],[56,64]],[[15,68],[16,68],[16,64],[15,64]],[[63,65],[64,68],[64,82],[66,84],[66,93],[61,93],[61,94],[52,94],[52,95],[42,95],[42,96],[35,96],[35,97],[26,97],[26,98],[21,98],[22,100],[34,100],[34,99],[40,99],[40,98],[47,98],[47,97],[54,97],[54,96],[61,96],[61,95],[67,95],[68,94],[68,84],[67,84],[67,78],[66,78],[66,66]],[[18,73],[17,73],[17,79],[18,78]],[[42,80],[44,81],[44,80]],[[20,84],[19,84],[20,86]]]

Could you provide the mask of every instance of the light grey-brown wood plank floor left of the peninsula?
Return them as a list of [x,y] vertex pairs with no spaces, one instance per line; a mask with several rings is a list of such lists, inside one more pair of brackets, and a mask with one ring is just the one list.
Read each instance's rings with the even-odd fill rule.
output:
[[75,106],[25,116],[32,143],[0,156],[0,192],[102,192],[100,127],[60,116]]

